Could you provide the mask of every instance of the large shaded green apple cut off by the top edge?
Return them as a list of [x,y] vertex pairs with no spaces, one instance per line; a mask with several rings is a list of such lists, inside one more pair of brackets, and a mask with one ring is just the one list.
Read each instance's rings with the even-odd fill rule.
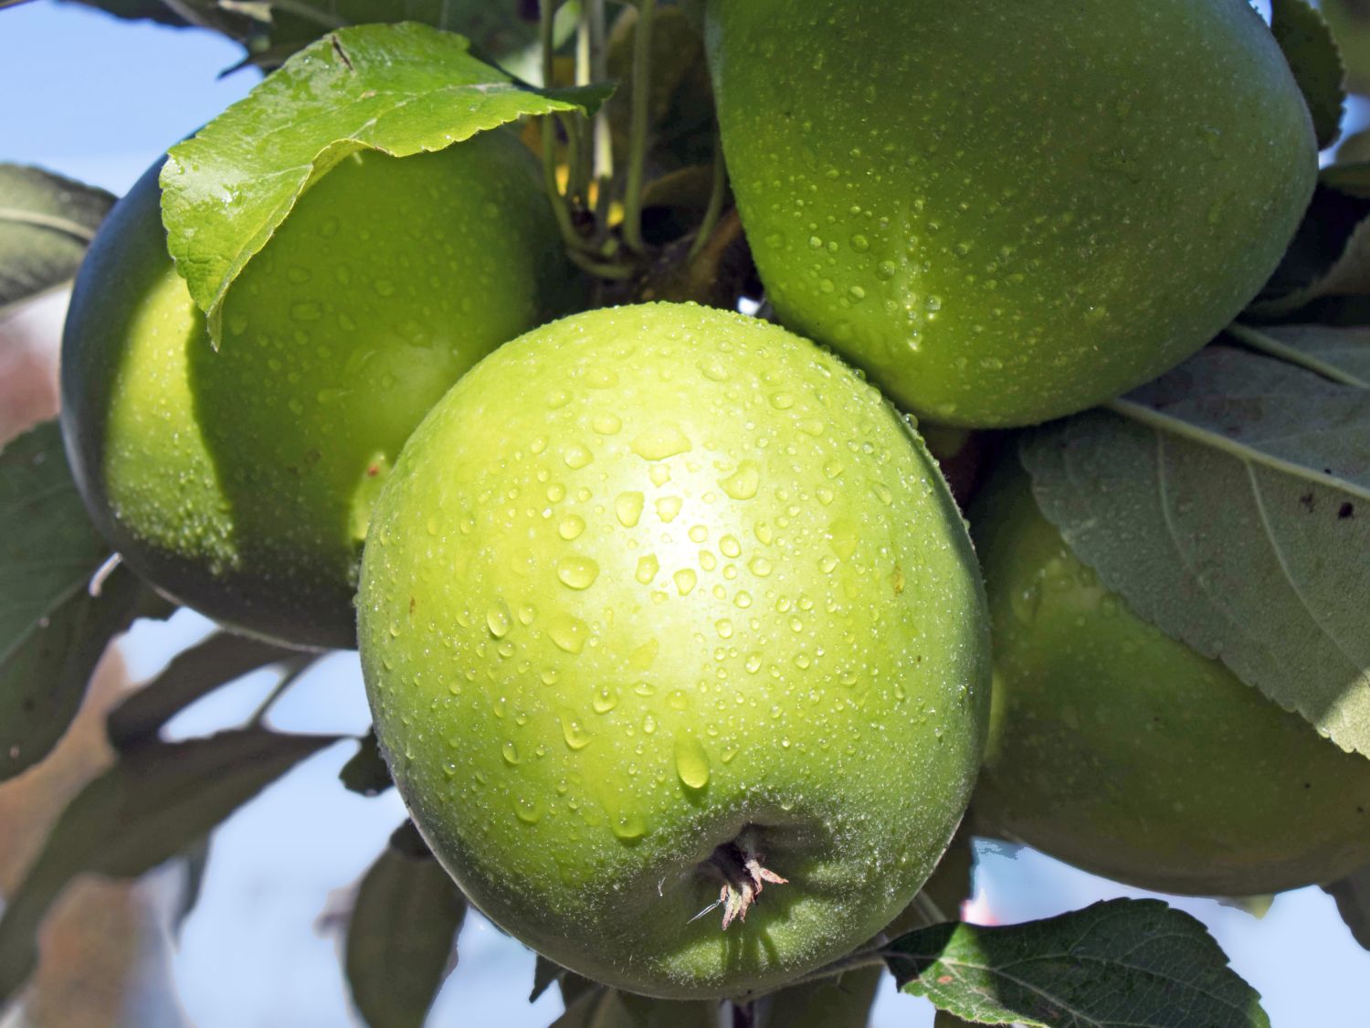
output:
[[781,319],[948,425],[1154,378],[1282,255],[1312,123],[1243,0],[726,0],[723,152]]

